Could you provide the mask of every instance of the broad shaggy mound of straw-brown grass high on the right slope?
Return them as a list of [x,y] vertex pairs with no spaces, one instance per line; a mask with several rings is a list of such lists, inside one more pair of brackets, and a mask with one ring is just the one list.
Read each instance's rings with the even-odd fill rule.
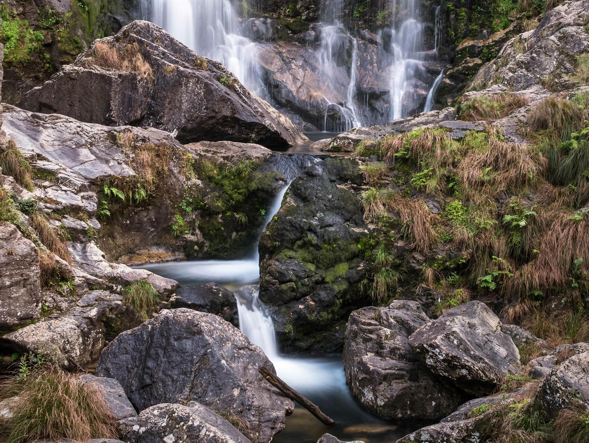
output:
[[472,191],[494,196],[542,183],[547,168],[547,160],[535,147],[490,136],[488,149],[471,150],[459,163],[456,175],[464,192],[474,198]]

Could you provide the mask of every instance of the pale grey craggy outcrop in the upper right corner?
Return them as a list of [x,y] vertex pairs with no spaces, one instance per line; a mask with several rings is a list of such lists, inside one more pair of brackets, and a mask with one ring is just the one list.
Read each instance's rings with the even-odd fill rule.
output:
[[542,84],[551,91],[575,86],[578,55],[589,51],[584,27],[587,0],[564,2],[544,15],[538,26],[512,38],[497,58],[478,71],[471,85],[504,84],[521,91]]

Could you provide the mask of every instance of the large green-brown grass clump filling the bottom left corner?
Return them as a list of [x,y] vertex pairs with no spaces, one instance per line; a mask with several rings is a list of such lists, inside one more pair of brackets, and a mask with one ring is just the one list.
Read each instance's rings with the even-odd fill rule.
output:
[[[32,358],[31,358],[32,361]],[[5,443],[117,438],[114,416],[102,393],[55,363],[23,360],[0,383],[0,398],[17,397],[3,417]]]

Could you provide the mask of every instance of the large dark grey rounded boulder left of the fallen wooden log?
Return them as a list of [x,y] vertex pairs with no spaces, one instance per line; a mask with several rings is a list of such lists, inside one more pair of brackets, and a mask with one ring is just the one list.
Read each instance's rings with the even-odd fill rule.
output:
[[119,380],[139,411],[197,401],[247,421],[247,437],[267,443],[294,405],[268,385],[260,366],[274,369],[230,323],[180,308],[120,334],[102,352],[96,373]]

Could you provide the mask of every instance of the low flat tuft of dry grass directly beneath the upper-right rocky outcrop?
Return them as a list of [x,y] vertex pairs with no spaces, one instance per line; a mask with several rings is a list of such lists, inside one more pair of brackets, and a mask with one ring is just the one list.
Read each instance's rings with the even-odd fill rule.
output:
[[521,94],[489,94],[474,97],[474,99],[462,104],[459,114],[460,119],[466,122],[478,122],[479,120],[491,122],[491,120],[498,120],[508,116],[528,103],[528,99]]

